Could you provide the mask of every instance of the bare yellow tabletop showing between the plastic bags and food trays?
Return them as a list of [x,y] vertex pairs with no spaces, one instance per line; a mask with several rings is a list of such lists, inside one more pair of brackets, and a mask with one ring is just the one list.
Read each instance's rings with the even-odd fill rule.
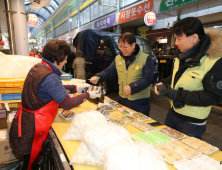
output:
[[[97,107],[98,106],[96,104],[86,101],[83,104],[81,104],[79,107],[74,108],[73,110],[77,114],[79,114],[84,111],[95,110]],[[112,119],[119,119],[119,116],[123,116],[123,113],[121,113],[119,110],[114,110],[109,113],[110,113]],[[151,120],[145,121],[145,122],[149,123],[149,122],[154,122],[154,121],[155,120],[151,119]],[[71,123],[71,120],[65,120],[60,116],[60,114],[57,114],[57,116],[54,120],[54,123],[52,124],[52,128],[55,132],[55,135],[57,136],[58,141],[61,144],[62,148],[64,149],[64,153],[68,158],[68,160],[64,160],[64,162],[67,162],[67,163],[69,163],[72,156],[74,155],[74,153],[76,152],[76,150],[78,149],[78,147],[80,145],[80,141],[61,140],[62,136],[66,133],[67,129],[69,128],[70,123]],[[164,126],[164,125],[156,126],[157,129],[161,129],[164,127],[166,127],[166,126]],[[131,124],[126,124],[125,129],[130,134],[137,134],[137,133],[142,132],[141,130],[139,130],[138,128],[136,128],[135,126],[133,126]],[[185,138],[187,138],[187,136]],[[181,141],[181,140],[182,139],[179,139],[179,141]],[[213,152],[212,154],[209,154],[208,156],[211,158],[214,158],[217,161],[221,161],[222,152],[218,150],[218,151]],[[172,169],[172,170],[176,169],[173,165],[171,165],[169,163],[167,163],[167,165],[168,165],[169,169]],[[90,166],[90,165],[85,165],[85,164],[72,164],[72,167],[75,170],[100,170],[100,169],[102,170],[103,169],[102,166]]]

